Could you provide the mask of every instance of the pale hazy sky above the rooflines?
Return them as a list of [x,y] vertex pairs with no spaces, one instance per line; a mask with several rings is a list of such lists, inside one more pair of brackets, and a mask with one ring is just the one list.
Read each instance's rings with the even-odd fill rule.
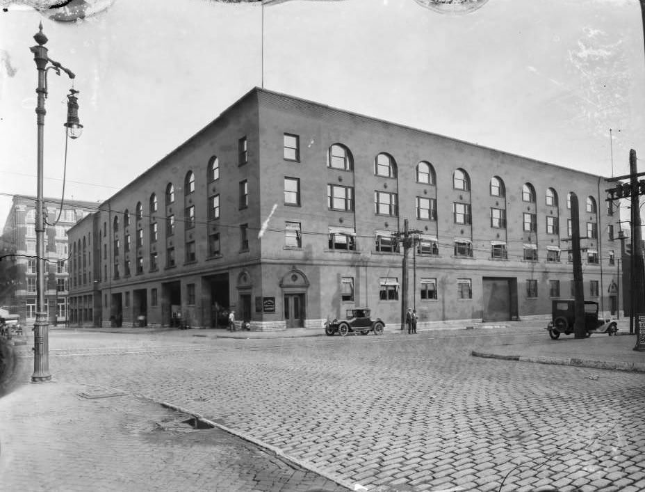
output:
[[[80,91],[67,199],[109,198],[262,84],[607,177],[628,173],[630,148],[645,155],[637,0],[489,0],[465,15],[293,0],[266,6],[264,29],[259,3],[92,1],[108,7],[77,22],[0,12],[0,225],[10,196],[36,193],[39,22]],[[48,81],[44,194],[60,198],[71,81]]]

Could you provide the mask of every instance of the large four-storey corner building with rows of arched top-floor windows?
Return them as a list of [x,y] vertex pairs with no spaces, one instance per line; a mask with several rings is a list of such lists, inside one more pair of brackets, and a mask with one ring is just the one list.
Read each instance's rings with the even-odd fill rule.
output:
[[398,323],[402,253],[391,233],[409,219],[422,231],[409,261],[421,326],[545,315],[571,296],[573,191],[588,238],[585,296],[608,309],[618,219],[604,187],[596,175],[254,88],[70,230],[72,257],[85,239],[95,252],[91,268],[72,263],[82,278],[72,303],[92,305],[85,319],[102,324],[168,325],[177,312],[215,326],[231,308],[255,330],[320,328],[354,305]]

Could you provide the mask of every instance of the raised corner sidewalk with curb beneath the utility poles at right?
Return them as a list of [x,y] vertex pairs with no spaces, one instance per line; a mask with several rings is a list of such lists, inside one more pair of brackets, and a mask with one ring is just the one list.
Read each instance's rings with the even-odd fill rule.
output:
[[594,334],[589,338],[575,339],[561,335],[551,340],[544,331],[544,340],[527,343],[505,343],[485,351],[473,350],[475,357],[519,360],[542,364],[574,365],[598,369],[645,373],[645,351],[635,351],[636,336],[629,333],[628,320],[619,322],[619,336]]

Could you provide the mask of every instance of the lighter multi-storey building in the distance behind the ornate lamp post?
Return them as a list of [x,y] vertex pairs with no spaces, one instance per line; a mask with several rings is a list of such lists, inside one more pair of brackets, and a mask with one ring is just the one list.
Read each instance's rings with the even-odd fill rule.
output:
[[[9,215],[5,221],[2,241],[3,259],[10,266],[11,273],[4,271],[6,288],[0,293],[0,304],[20,316],[20,321],[33,324],[36,312],[36,234],[35,197],[14,196]],[[60,200],[44,198],[47,221],[54,223],[58,218]],[[66,200],[63,212],[56,225],[45,229],[45,298],[47,317],[50,324],[63,323],[67,319],[67,230],[81,217],[95,212],[97,204]]]

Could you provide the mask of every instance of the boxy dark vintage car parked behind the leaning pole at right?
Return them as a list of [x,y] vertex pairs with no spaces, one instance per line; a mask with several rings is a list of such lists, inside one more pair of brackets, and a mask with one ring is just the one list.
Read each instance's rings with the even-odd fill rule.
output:
[[[575,325],[575,301],[571,300],[554,300],[551,306],[552,320],[545,328],[548,330],[550,338],[557,340],[560,333],[570,335],[574,331]],[[616,335],[618,331],[617,323],[611,318],[598,319],[598,303],[594,301],[585,301],[585,331],[587,337],[591,333],[607,333],[607,335]]]

